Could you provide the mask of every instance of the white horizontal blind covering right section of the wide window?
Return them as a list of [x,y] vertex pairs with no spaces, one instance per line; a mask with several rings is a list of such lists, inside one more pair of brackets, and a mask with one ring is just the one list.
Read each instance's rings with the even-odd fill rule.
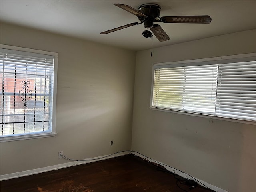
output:
[[256,61],[219,64],[216,114],[256,120]]

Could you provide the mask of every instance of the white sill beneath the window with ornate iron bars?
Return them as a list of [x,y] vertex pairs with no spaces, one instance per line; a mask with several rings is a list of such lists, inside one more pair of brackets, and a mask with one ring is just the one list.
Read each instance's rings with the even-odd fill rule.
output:
[[56,133],[39,133],[39,134],[28,134],[28,135],[18,135],[18,136],[7,136],[7,137],[0,137],[0,142],[36,139],[36,138],[44,138],[44,137],[54,137],[55,135],[56,135]]

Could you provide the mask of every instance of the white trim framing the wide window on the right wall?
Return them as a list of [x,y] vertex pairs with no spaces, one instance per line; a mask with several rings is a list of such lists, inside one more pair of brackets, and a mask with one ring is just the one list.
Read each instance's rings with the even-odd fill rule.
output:
[[[175,110],[175,109],[166,109],[161,107],[153,106],[153,90],[154,90],[154,70],[159,67],[168,68],[170,67],[180,67],[180,66],[199,66],[199,65],[210,65],[210,64],[225,64],[230,62],[245,62],[251,60],[252,58],[256,57],[256,53],[248,53],[248,54],[237,54],[237,55],[229,55],[229,56],[220,56],[220,57],[212,57],[212,58],[202,58],[202,59],[194,59],[194,60],[183,60],[183,61],[174,61],[174,62],[165,62],[165,63],[156,63],[152,65],[152,80],[151,80],[151,93],[150,93],[150,109],[151,110],[158,110],[162,112],[172,112],[177,114],[184,114],[190,116],[198,116],[204,117],[209,119],[219,119],[231,122],[239,122],[245,124],[252,124],[256,125],[256,121],[253,120],[242,120],[242,119],[235,119],[231,117],[222,117],[212,114],[202,114],[197,112],[187,112],[182,110]],[[210,120],[209,120],[210,122]]]

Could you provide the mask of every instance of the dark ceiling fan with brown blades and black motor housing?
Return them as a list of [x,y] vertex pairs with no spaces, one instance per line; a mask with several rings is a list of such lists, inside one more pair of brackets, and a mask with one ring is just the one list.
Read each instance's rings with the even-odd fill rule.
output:
[[[163,23],[210,23],[212,18],[208,15],[199,15],[199,16],[164,16],[160,18],[161,7],[157,4],[143,4],[138,7],[138,10],[132,8],[129,5],[114,3],[115,6],[130,12],[138,17],[140,23],[130,23],[124,26],[120,26],[114,29],[110,29],[100,34],[108,34],[120,29],[124,29],[130,26],[139,25],[144,23],[145,28],[150,28],[153,34],[159,41],[167,41],[170,37],[164,32],[162,27],[154,22],[163,22]],[[152,33],[149,30],[143,31],[142,35],[146,38],[151,38]]]

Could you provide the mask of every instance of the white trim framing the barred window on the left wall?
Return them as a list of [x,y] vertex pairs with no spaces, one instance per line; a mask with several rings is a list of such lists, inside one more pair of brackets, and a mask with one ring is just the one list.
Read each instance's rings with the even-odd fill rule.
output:
[[44,137],[52,137],[56,135],[56,99],[57,99],[57,70],[58,70],[58,53],[56,52],[48,52],[43,50],[36,50],[31,48],[23,48],[18,46],[10,46],[0,44],[0,48],[45,54],[54,56],[54,82],[53,82],[53,103],[52,103],[52,131],[45,133],[36,133],[36,134],[24,134],[24,135],[16,135],[16,136],[6,136],[1,137],[0,142],[8,142],[8,141],[16,141],[16,140],[26,140],[26,139],[34,139],[34,138],[44,138]]

